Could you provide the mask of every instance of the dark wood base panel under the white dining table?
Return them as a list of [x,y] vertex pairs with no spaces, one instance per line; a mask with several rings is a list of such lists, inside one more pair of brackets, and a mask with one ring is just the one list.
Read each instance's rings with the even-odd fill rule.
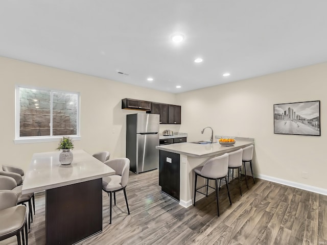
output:
[[102,231],[102,179],[45,192],[46,245],[74,244]]

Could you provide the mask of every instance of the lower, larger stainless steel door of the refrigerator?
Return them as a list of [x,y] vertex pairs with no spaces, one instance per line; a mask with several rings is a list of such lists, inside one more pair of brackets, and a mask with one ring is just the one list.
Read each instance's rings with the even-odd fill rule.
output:
[[149,171],[159,167],[159,134],[136,134],[136,173]]

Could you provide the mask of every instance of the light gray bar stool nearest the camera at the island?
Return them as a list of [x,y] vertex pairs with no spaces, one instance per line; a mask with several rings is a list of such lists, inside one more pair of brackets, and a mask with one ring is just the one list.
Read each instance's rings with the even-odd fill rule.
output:
[[[206,197],[208,196],[208,187],[213,188],[209,186],[209,180],[215,180],[216,182],[216,188],[213,188],[216,190],[216,201],[217,201],[217,213],[219,216],[219,188],[218,188],[218,180],[224,180],[226,182],[227,187],[227,193],[229,198],[229,203],[231,205],[230,195],[229,195],[229,189],[228,189],[228,181],[226,179],[227,172],[228,172],[228,153],[225,153],[222,156],[214,157],[212,159],[209,159],[204,163],[203,166],[197,167],[193,169],[195,174],[195,183],[194,183],[194,201],[193,206],[195,206],[195,197],[196,192],[199,192]],[[197,187],[197,179],[198,176],[206,179],[206,185]],[[198,189],[203,188],[206,186],[206,194],[198,191]]]

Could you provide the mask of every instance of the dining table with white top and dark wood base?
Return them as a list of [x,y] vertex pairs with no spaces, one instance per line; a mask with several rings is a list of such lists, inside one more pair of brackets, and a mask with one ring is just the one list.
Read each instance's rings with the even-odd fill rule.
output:
[[33,154],[22,194],[45,190],[46,244],[74,244],[102,231],[102,177],[115,171],[83,150],[61,165],[60,152]]

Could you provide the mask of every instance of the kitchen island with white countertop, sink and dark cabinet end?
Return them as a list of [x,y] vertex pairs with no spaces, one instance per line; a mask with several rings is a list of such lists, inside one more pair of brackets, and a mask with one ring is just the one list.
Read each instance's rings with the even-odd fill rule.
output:
[[159,150],[159,185],[162,192],[179,201],[185,208],[191,206],[195,167],[203,165],[210,158],[254,144],[253,138],[237,137],[235,140],[236,143],[232,146],[223,146],[218,142],[184,142],[156,146]]

